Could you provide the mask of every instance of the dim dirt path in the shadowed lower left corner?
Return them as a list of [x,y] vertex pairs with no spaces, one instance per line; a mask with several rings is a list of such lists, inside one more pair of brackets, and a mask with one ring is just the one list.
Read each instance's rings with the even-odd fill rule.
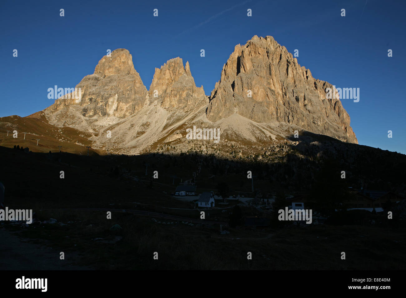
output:
[[65,253],[65,260],[61,260],[59,253],[0,228],[0,270],[91,270],[72,265],[79,260],[78,255]]

